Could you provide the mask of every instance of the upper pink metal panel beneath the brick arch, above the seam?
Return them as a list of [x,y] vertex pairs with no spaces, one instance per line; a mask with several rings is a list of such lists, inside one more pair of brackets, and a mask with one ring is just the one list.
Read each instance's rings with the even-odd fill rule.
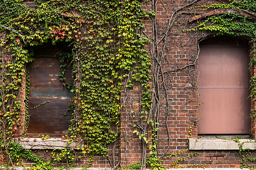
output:
[[199,87],[248,88],[247,46],[238,46],[236,41],[221,42],[200,46]]

